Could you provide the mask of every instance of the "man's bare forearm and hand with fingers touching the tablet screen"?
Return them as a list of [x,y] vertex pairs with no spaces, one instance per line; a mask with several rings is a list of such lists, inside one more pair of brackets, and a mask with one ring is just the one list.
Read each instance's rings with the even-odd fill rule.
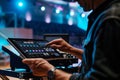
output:
[[67,43],[62,38],[52,40],[47,45],[51,46],[52,48],[56,48],[61,51],[70,53],[70,54],[78,57],[79,59],[82,59],[83,50],[71,46],[69,43]]

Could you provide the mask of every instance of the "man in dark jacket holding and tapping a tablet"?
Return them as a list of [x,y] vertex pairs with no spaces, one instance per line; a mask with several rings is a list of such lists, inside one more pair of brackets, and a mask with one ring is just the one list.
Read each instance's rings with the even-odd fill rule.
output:
[[53,40],[48,45],[82,59],[81,72],[66,73],[42,58],[24,59],[23,63],[36,76],[49,76],[52,70],[51,80],[120,80],[120,1],[105,0],[90,14],[84,50],[63,39]]

